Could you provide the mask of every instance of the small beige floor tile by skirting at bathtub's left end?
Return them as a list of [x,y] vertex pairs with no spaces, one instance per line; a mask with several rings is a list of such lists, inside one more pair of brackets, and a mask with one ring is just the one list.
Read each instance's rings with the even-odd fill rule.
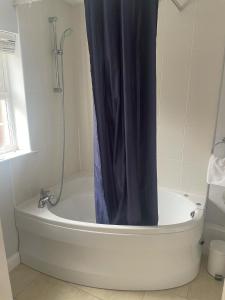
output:
[[34,279],[40,276],[40,273],[20,264],[10,272],[10,281],[14,297],[23,291]]

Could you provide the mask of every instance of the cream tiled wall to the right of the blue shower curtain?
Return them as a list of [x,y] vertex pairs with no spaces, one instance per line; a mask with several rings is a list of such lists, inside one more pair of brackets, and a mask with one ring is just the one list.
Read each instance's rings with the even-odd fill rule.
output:
[[159,183],[205,194],[225,47],[225,2],[161,1],[158,23]]

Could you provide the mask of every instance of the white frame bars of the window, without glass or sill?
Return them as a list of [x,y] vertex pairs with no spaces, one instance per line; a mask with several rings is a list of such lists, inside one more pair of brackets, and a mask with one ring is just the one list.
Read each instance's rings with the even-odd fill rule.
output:
[[5,83],[5,91],[0,91],[0,98],[3,99],[6,103],[6,111],[7,111],[7,119],[8,119],[8,129],[10,136],[10,145],[0,148],[0,155],[15,152],[18,150],[17,138],[16,138],[16,127],[15,127],[15,118],[14,111],[12,105],[12,97],[10,92],[10,82],[8,76],[8,59],[10,54],[1,53],[0,56],[3,62],[3,74],[4,74],[4,83]]

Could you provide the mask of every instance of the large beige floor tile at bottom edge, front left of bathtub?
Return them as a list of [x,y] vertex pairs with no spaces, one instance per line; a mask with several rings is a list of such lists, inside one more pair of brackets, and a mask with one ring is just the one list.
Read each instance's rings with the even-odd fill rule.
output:
[[98,300],[75,286],[41,275],[16,300]]

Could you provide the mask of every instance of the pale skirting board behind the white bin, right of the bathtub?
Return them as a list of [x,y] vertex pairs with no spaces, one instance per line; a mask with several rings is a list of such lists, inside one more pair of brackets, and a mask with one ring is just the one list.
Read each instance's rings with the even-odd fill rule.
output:
[[213,223],[205,223],[204,226],[204,240],[205,245],[203,248],[203,252],[208,254],[209,252],[209,244],[211,240],[224,240],[225,241],[225,227]]

